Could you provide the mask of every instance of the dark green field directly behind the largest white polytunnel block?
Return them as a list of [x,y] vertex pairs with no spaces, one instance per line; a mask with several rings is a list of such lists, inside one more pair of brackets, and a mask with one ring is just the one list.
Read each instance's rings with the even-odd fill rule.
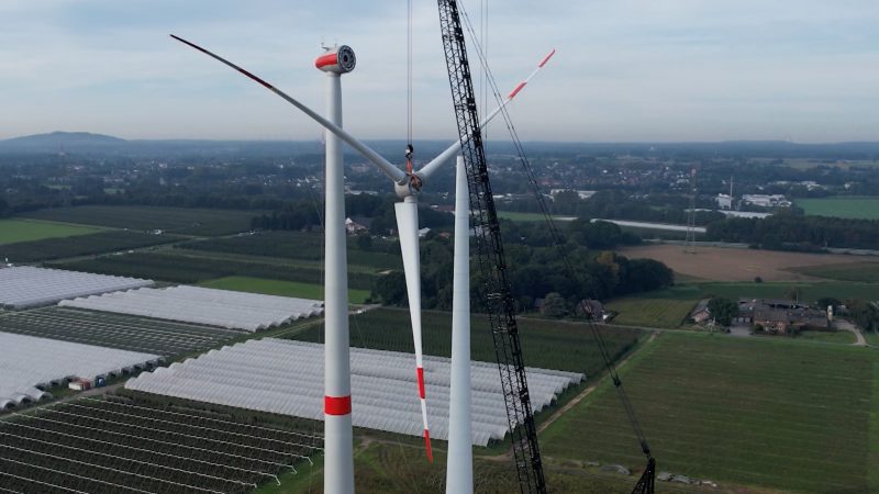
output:
[[[424,355],[452,356],[452,313],[424,311],[422,316]],[[488,317],[471,317],[470,355],[474,360],[494,362],[494,345]],[[351,318],[351,344],[360,348],[412,352],[412,329],[409,311],[382,307]],[[585,324],[547,319],[519,319],[520,339],[525,364],[544,369],[583,372],[592,377],[601,372],[602,360],[592,335]],[[612,358],[634,347],[644,333],[637,329],[603,327],[601,329]],[[293,339],[323,341],[321,328],[310,328]],[[564,349],[564,351],[559,351]]]

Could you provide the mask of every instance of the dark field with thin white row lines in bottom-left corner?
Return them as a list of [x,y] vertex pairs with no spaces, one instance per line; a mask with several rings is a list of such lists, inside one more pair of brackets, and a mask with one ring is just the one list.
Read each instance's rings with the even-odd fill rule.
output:
[[243,493],[310,461],[322,439],[112,397],[0,423],[0,487]]

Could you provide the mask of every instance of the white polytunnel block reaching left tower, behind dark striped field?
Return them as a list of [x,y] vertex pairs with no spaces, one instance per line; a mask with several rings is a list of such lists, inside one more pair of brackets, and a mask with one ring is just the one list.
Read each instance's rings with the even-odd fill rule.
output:
[[322,302],[199,287],[170,287],[67,300],[59,305],[256,332],[323,312]]

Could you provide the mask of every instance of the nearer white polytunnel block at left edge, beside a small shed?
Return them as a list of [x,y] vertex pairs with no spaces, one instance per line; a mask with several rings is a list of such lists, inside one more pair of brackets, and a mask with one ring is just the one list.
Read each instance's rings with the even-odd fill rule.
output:
[[93,381],[146,363],[157,355],[0,333],[0,408],[51,397],[37,385],[62,384],[67,378]]

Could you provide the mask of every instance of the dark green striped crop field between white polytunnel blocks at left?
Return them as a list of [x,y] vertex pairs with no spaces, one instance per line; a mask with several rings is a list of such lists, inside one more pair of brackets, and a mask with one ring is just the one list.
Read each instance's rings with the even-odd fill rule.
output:
[[57,306],[0,315],[0,332],[162,356],[203,350],[247,334],[240,329]]

